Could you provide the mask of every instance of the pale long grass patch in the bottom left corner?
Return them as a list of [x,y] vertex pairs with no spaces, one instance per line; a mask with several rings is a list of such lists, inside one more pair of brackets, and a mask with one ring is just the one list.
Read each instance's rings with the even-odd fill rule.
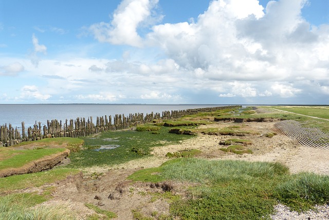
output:
[[47,199],[34,193],[10,194],[0,197],[0,219],[11,220],[66,220],[74,219],[72,212],[64,206],[36,206]]

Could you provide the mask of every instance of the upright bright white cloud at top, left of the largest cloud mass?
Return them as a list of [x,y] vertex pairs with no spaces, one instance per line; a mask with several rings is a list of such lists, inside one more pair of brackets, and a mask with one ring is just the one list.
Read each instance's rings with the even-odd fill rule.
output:
[[148,21],[157,3],[158,0],[123,0],[114,12],[111,24],[93,24],[89,30],[100,42],[141,47],[143,42],[137,29]]

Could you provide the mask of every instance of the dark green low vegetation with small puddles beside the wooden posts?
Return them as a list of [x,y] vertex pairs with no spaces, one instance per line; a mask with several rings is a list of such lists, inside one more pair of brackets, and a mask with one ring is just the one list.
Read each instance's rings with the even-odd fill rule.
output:
[[[169,133],[169,127],[162,126],[158,134],[152,132],[116,131],[104,132],[94,137],[82,138],[85,142],[85,150],[71,153],[70,168],[85,168],[120,164],[130,160],[150,156],[153,147],[178,143],[181,140],[191,138],[188,135],[176,135]],[[95,151],[101,145],[119,145],[111,150]]]

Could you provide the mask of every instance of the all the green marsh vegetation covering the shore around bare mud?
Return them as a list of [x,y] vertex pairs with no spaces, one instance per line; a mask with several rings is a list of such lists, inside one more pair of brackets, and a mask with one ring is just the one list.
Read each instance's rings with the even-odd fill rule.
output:
[[[45,201],[52,200],[54,192],[57,191],[58,186],[52,185],[53,182],[65,182],[67,177],[80,176],[81,171],[85,172],[90,168],[115,167],[145,158],[143,161],[147,161],[148,158],[155,157],[152,154],[154,149],[179,145],[199,135],[225,137],[221,143],[217,142],[216,148],[229,155],[252,154],[254,142],[249,137],[263,135],[267,138],[263,139],[266,141],[276,138],[277,135],[275,132],[260,134],[243,123],[228,123],[217,127],[216,123],[223,122],[216,122],[215,119],[290,119],[303,122],[304,126],[316,122],[313,126],[321,125],[319,127],[323,131],[328,131],[326,129],[329,126],[325,121],[275,112],[268,107],[263,109],[265,113],[256,113],[251,107],[225,109],[177,120],[155,121],[129,130],[103,132],[81,139],[36,141],[33,148],[25,145],[19,145],[18,148],[0,148],[0,171],[13,166],[24,166],[29,161],[61,152],[65,148],[71,150],[71,163],[64,168],[0,178],[0,193],[3,195],[0,198],[0,218],[31,219],[30,216],[33,216],[32,219],[76,219],[77,213],[70,211],[69,207],[54,208],[42,205]],[[327,111],[327,108],[316,108],[313,112],[313,108],[305,107],[280,109],[319,117],[326,117],[323,115],[326,115]],[[51,140],[57,142],[49,142]],[[105,148],[114,145],[115,148]],[[291,174],[288,167],[278,162],[209,160],[203,158],[202,153],[194,148],[171,151],[166,155],[167,162],[161,166],[141,169],[144,167],[142,164],[138,171],[127,172],[131,174],[127,177],[130,182],[126,186],[127,190],[120,188],[122,192],[139,198],[151,197],[150,204],[160,200],[169,204],[165,213],[153,210],[147,214],[137,207],[130,210],[131,215],[127,216],[133,216],[134,219],[270,219],[273,207],[278,203],[296,211],[305,211],[314,208],[316,204],[329,203],[327,175],[308,172]],[[120,173],[119,170],[115,172]],[[87,173],[84,178],[88,178],[92,185],[102,178],[107,178],[106,173]],[[181,187],[156,193],[135,192],[141,189],[135,185],[138,182],[161,185],[159,183],[163,181],[176,182]],[[106,181],[102,183],[106,184]],[[27,188],[31,191],[24,191]],[[42,190],[36,193],[38,190],[32,189]],[[84,201],[84,207],[94,212],[84,215],[85,219],[111,219],[117,216],[112,210],[108,210],[107,206],[100,204],[97,204],[96,200],[95,203]]]

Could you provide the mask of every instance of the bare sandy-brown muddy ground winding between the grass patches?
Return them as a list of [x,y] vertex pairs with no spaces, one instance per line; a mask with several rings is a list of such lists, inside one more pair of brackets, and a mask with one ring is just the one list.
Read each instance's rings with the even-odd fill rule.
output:
[[[186,149],[199,149],[203,153],[198,157],[212,160],[278,161],[285,164],[291,173],[309,171],[329,175],[328,150],[302,146],[296,140],[281,134],[272,138],[266,137],[265,134],[273,132],[274,123],[243,122],[239,125],[243,125],[245,130],[253,131],[253,135],[234,137],[199,134],[195,138],[178,144],[157,147],[152,152],[153,157],[112,167],[85,169],[82,180],[71,178],[52,184],[52,186],[56,186],[56,190],[52,193],[53,199],[47,204],[67,204],[68,202],[77,212],[79,219],[85,219],[87,215],[94,213],[84,206],[85,203],[92,203],[101,209],[115,212],[118,215],[115,219],[133,219],[132,210],[138,210],[145,216],[168,214],[169,204],[161,198],[152,197],[148,192],[172,191],[184,196],[188,186],[179,182],[161,182],[158,185],[140,182],[132,184],[126,180],[126,177],[142,168],[160,166],[168,160],[165,157],[168,152]],[[233,124],[236,125],[233,122],[218,122],[203,126],[225,127]],[[219,144],[220,141],[230,138],[251,140],[252,145],[248,145],[248,148],[253,153],[236,155],[221,151],[220,148],[223,146]],[[95,173],[99,175],[95,175]]]

